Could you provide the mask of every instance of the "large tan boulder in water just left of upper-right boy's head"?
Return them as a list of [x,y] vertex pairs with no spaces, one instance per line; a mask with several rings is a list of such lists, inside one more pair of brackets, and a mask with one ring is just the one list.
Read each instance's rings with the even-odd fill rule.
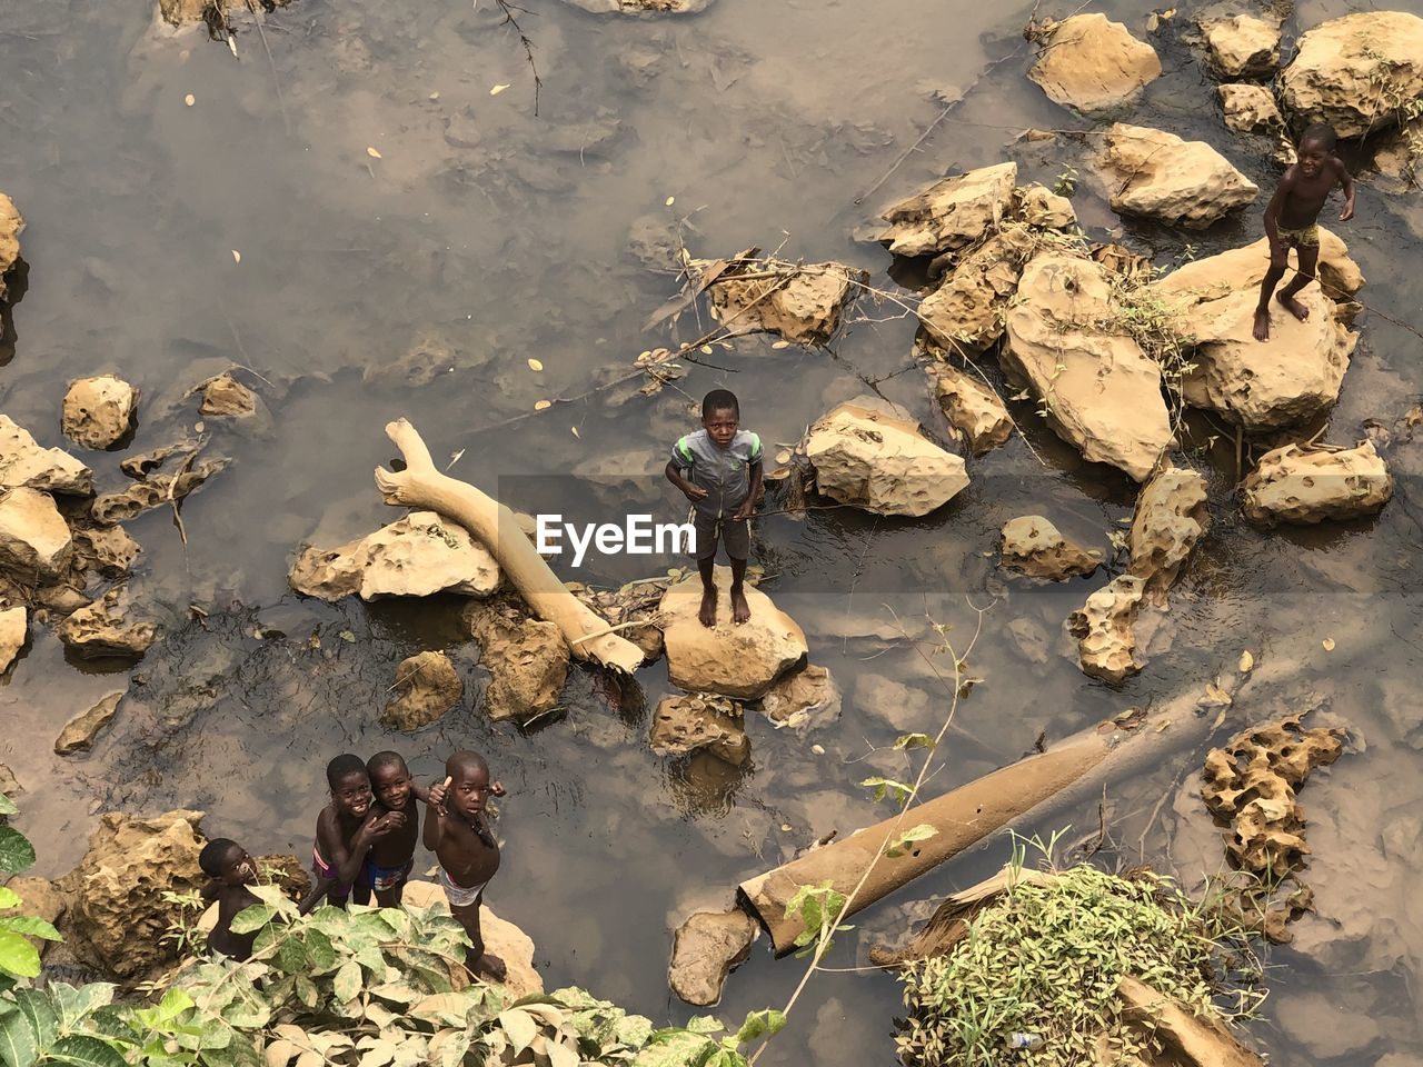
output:
[[1204,229],[1259,193],[1259,186],[1204,141],[1117,122],[1101,156],[1111,208]]

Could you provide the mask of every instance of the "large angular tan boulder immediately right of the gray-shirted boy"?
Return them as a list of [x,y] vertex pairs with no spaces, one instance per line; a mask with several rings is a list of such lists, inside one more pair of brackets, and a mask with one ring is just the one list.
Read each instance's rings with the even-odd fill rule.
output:
[[969,484],[963,460],[871,397],[820,418],[805,437],[805,455],[820,492],[879,515],[928,515]]

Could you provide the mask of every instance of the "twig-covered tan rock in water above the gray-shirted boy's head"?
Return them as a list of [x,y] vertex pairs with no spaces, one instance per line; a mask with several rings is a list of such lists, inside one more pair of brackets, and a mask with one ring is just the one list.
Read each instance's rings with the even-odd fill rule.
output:
[[[692,263],[694,270],[710,266],[707,260]],[[707,286],[707,296],[717,322],[733,333],[761,330],[788,341],[824,344],[868,280],[868,272],[844,263],[753,260],[726,269]]]

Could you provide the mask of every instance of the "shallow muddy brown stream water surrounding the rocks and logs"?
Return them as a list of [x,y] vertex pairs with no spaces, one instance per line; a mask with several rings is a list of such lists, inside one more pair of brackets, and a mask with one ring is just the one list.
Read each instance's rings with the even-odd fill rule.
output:
[[[1158,263],[1187,245],[1204,253],[1259,233],[1258,209],[1198,235],[1123,225],[1079,147],[1012,145],[1025,127],[1089,128],[1023,77],[1026,4],[720,0],[689,18],[616,18],[534,0],[524,21],[544,78],[536,118],[528,67],[491,7],[299,0],[266,21],[270,60],[250,24],[235,60],[202,31],[155,28],[144,3],[0,0],[0,189],[28,221],[23,296],[0,331],[4,411],[43,444],[63,444],[67,380],[114,370],[142,388],[132,450],[151,448],[192,430],[192,384],[239,363],[260,376],[246,381],[270,415],[255,430],[206,427],[209,451],[236,462],[186,504],[186,551],[161,512],[129,524],[144,545],[135,590],[165,626],[148,657],[132,669],[73,663],[34,626],[0,689],[0,760],[27,790],[21,825],[38,842],[40,872],[68,869],[108,808],[202,808],[212,835],[305,856],[329,757],[393,745],[430,777],[453,747],[472,745],[511,794],[490,901],[534,936],[545,980],[684,1020],[692,1012],[665,982],[669,930],[805,842],[887,814],[855,782],[904,774],[885,748],[904,730],[933,733],[948,704],[899,627],[919,633],[929,612],[966,642],[972,598],[993,605],[972,654],[983,681],[958,713],[962,733],[935,791],[1016,758],[1039,731],[1060,737],[1204,687],[1242,649],[1298,664],[1221,727],[1313,704],[1349,720],[1358,738],[1303,791],[1321,915],[1301,925],[1301,949],[1272,953],[1269,1020],[1255,1033],[1279,1061],[1416,1063],[1417,444],[1389,451],[1399,495],[1376,521],[1262,534],[1231,506],[1231,448],[1210,447],[1208,427],[1194,424],[1201,448],[1187,458],[1210,472],[1215,525],[1150,666],[1120,691],[1080,674],[1060,629],[1106,575],[1042,590],[1002,580],[990,553],[999,525],[1029,511],[1106,546],[1133,487],[1084,465],[1019,405],[1044,464],[1015,438],[975,461],[972,488],[929,518],[827,511],[760,524],[757,555],[777,575],[768,590],[845,697],[838,720],[804,737],[753,713],[744,773],[649,751],[647,708],[669,690],[660,664],[639,673],[642,694],[622,707],[575,671],[566,714],[528,733],[491,726],[470,700],[413,737],[379,726],[400,659],[458,642],[458,603],[323,605],[287,592],[285,575],[303,539],[334,543],[393,518],[370,477],[391,457],[387,420],[410,417],[437,457],[464,450],[454,472],[515,506],[552,492],[571,514],[676,515],[665,482],[646,472],[692,425],[677,391],[561,405],[480,432],[669,340],[642,329],[675,286],[632,253],[635,226],[656,236],[682,219],[692,250],[712,256],[784,240],[788,256],[850,262],[892,289],[888,256],[857,243],[854,228],[943,172],[1012,155],[1023,181],[1052,184],[1076,165],[1083,223]],[[1403,7],[1423,13],[1417,0]],[[1144,4],[1103,10],[1144,31]],[[1286,28],[1348,10],[1305,3]],[[1165,75],[1126,117],[1211,141],[1268,191],[1265,142],[1227,135],[1178,37],[1191,14],[1181,9],[1155,38]],[[939,112],[936,90],[968,95],[857,205]],[[1365,181],[1340,233],[1369,279],[1363,299],[1417,324],[1417,196]],[[692,367],[679,386],[739,391],[744,424],[767,442],[797,440],[864,378],[942,432],[918,371],[896,374],[914,337],[898,312],[861,303],[834,351],[746,339],[717,350],[729,371]],[[1336,442],[1358,438],[1365,418],[1392,423],[1423,390],[1419,339],[1382,314],[1360,322],[1331,421]],[[694,333],[689,319],[677,337]],[[413,346],[435,353],[424,381],[391,370]],[[545,370],[532,373],[529,357]],[[122,482],[120,455],[85,458],[102,487]],[[588,478],[561,479],[581,464]],[[562,573],[613,582],[679,562],[591,559]],[[189,603],[208,619],[194,622]],[[477,656],[460,656],[477,691]],[[71,714],[127,686],[92,754],[51,755]],[[1200,757],[1181,753],[1107,791],[1109,854],[1188,883],[1220,865],[1191,790]],[[1035,829],[1072,824],[1076,841],[1096,837],[1097,819],[1091,807]],[[862,962],[869,942],[924,913],[912,902],[975,881],[1006,854],[999,839],[891,898],[827,965]],[[794,987],[803,965],[774,962],[764,945],[729,983],[724,1017],[777,1006]],[[818,976],[763,1063],[889,1064],[896,1010],[884,975]]]

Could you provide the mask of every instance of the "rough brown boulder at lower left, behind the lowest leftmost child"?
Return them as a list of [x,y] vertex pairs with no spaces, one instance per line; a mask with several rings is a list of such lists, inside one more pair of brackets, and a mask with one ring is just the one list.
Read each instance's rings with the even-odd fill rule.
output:
[[64,933],[75,952],[118,979],[137,980],[176,959],[164,935],[184,916],[166,893],[201,889],[206,844],[201,811],[154,818],[105,814],[80,865],[60,879],[73,901]]

